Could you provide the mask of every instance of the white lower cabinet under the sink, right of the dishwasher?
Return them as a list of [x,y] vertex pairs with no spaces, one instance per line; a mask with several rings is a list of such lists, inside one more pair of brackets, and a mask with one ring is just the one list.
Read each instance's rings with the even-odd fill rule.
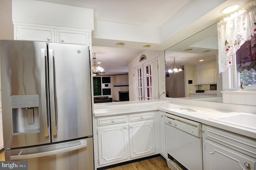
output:
[[256,140],[205,126],[204,170],[256,170]]

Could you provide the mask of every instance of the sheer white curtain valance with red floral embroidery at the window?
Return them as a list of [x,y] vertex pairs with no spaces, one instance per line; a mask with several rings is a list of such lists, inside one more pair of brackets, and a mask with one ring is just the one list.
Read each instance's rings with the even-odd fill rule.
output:
[[248,6],[217,23],[219,73],[233,65],[232,55],[256,34],[256,6]]

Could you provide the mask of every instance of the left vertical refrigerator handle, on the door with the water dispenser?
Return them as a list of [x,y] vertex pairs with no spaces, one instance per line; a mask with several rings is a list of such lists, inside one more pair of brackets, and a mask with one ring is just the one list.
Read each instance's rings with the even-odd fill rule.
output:
[[48,134],[48,122],[47,122],[47,111],[46,111],[46,50],[41,49],[41,99],[42,99],[42,118],[43,118],[43,129],[44,129],[44,137],[49,136]]

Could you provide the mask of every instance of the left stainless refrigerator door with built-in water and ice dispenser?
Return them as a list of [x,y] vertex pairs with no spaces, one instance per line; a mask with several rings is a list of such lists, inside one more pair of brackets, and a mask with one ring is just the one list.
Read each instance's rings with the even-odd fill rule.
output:
[[0,41],[4,148],[50,142],[45,42]]

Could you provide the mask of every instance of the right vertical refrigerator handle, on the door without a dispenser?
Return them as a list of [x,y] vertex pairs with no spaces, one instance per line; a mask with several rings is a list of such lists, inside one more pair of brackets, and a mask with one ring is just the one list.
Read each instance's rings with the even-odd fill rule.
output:
[[56,136],[56,120],[55,120],[55,99],[54,99],[54,53],[49,49],[49,92],[50,92],[50,114],[52,136]]

